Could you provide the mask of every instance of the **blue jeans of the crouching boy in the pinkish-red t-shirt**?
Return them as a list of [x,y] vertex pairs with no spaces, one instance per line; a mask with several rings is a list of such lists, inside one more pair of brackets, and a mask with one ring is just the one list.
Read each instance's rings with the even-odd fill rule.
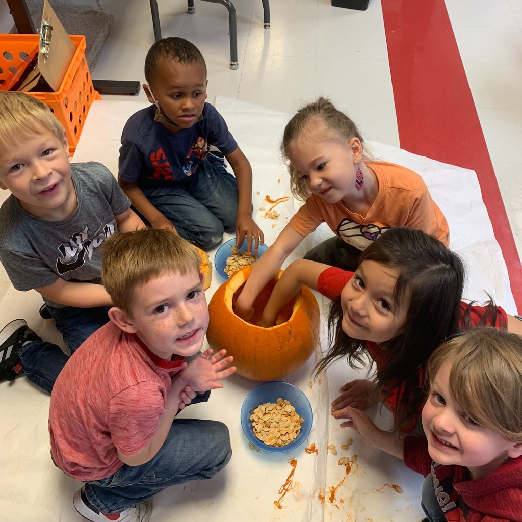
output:
[[85,483],[89,502],[102,513],[120,513],[165,488],[212,478],[232,456],[226,425],[218,421],[176,419],[158,453],[140,466]]

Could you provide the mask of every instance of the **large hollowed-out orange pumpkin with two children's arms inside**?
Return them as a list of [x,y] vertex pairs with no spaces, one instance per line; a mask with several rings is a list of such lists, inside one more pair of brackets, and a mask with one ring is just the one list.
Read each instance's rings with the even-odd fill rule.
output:
[[319,307],[312,292],[303,287],[282,310],[283,323],[262,328],[259,322],[270,293],[282,270],[259,294],[254,303],[252,324],[232,310],[234,296],[250,276],[252,266],[235,272],[224,282],[208,305],[210,323],[207,340],[216,351],[226,349],[234,356],[237,373],[254,381],[280,379],[301,367],[312,355],[319,338]]

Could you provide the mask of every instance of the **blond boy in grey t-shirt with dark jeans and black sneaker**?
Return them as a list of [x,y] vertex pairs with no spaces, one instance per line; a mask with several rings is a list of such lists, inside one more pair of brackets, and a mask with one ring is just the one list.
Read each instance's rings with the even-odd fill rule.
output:
[[[17,290],[35,289],[42,315],[74,352],[109,321],[99,247],[118,230],[144,227],[100,163],[69,163],[65,131],[51,109],[21,92],[0,92],[0,262]],[[0,331],[0,381],[25,372],[51,392],[68,355],[24,319]]]

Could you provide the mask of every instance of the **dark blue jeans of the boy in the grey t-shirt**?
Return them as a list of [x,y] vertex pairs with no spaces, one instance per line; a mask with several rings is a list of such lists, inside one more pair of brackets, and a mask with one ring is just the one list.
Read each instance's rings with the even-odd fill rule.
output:
[[[87,337],[109,321],[110,306],[99,308],[54,308],[48,306],[56,329],[73,353]],[[51,393],[58,373],[69,359],[62,349],[48,341],[31,341],[18,350],[23,373],[46,392]]]

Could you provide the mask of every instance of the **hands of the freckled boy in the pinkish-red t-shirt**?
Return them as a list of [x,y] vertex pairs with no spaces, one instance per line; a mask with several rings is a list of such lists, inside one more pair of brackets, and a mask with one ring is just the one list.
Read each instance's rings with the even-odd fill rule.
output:
[[220,350],[215,354],[212,354],[210,349],[206,350],[189,362],[186,369],[178,372],[177,375],[185,381],[187,386],[199,393],[222,388],[220,379],[229,377],[236,370],[235,366],[227,368],[234,358],[232,355],[229,357],[225,357],[225,355],[227,355],[227,350]]

